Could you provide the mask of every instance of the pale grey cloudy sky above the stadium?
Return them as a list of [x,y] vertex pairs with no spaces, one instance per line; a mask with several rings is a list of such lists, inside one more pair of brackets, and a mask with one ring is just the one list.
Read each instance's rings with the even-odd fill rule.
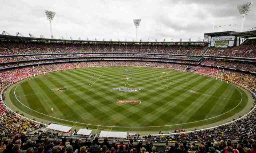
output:
[[[196,40],[204,33],[239,31],[237,4],[245,0],[0,0],[0,30],[50,38],[45,10],[55,11],[55,38],[132,40],[133,19],[141,19],[138,38],[159,41]],[[231,26],[228,26],[231,24]],[[226,26],[224,26],[226,25]],[[218,26],[218,28],[214,28]],[[221,27],[219,27],[221,26]],[[244,30],[256,27],[256,4],[246,16]]]

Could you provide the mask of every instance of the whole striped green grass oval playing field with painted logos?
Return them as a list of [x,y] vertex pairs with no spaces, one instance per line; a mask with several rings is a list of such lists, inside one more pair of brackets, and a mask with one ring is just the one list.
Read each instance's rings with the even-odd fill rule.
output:
[[248,101],[226,81],[146,67],[52,72],[21,81],[10,97],[39,121],[136,131],[212,124],[240,112]]

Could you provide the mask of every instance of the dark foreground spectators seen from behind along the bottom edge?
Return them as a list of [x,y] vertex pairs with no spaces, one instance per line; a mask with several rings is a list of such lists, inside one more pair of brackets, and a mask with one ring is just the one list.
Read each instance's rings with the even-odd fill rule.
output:
[[110,141],[107,138],[101,142],[98,137],[91,140],[66,139],[61,140],[42,138],[32,140],[24,134],[17,134],[0,141],[0,152],[4,153],[255,153],[256,141],[254,139],[226,141],[180,141],[166,143],[165,146],[156,146],[150,139],[145,142],[131,139],[127,143],[123,141]]

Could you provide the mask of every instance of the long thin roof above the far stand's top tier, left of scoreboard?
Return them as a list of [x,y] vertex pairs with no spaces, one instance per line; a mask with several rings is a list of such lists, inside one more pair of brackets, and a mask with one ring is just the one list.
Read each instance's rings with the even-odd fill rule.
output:
[[49,38],[31,38],[31,37],[18,37],[10,35],[0,35],[0,40],[14,40],[14,41],[34,41],[34,42],[58,42],[58,43],[91,43],[91,44],[107,44],[107,43],[126,43],[126,44],[206,44],[203,41],[182,41],[182,42],[161,42],[161,41],[98,41],[98,40],[65,40],[65,39],[49,39]]

